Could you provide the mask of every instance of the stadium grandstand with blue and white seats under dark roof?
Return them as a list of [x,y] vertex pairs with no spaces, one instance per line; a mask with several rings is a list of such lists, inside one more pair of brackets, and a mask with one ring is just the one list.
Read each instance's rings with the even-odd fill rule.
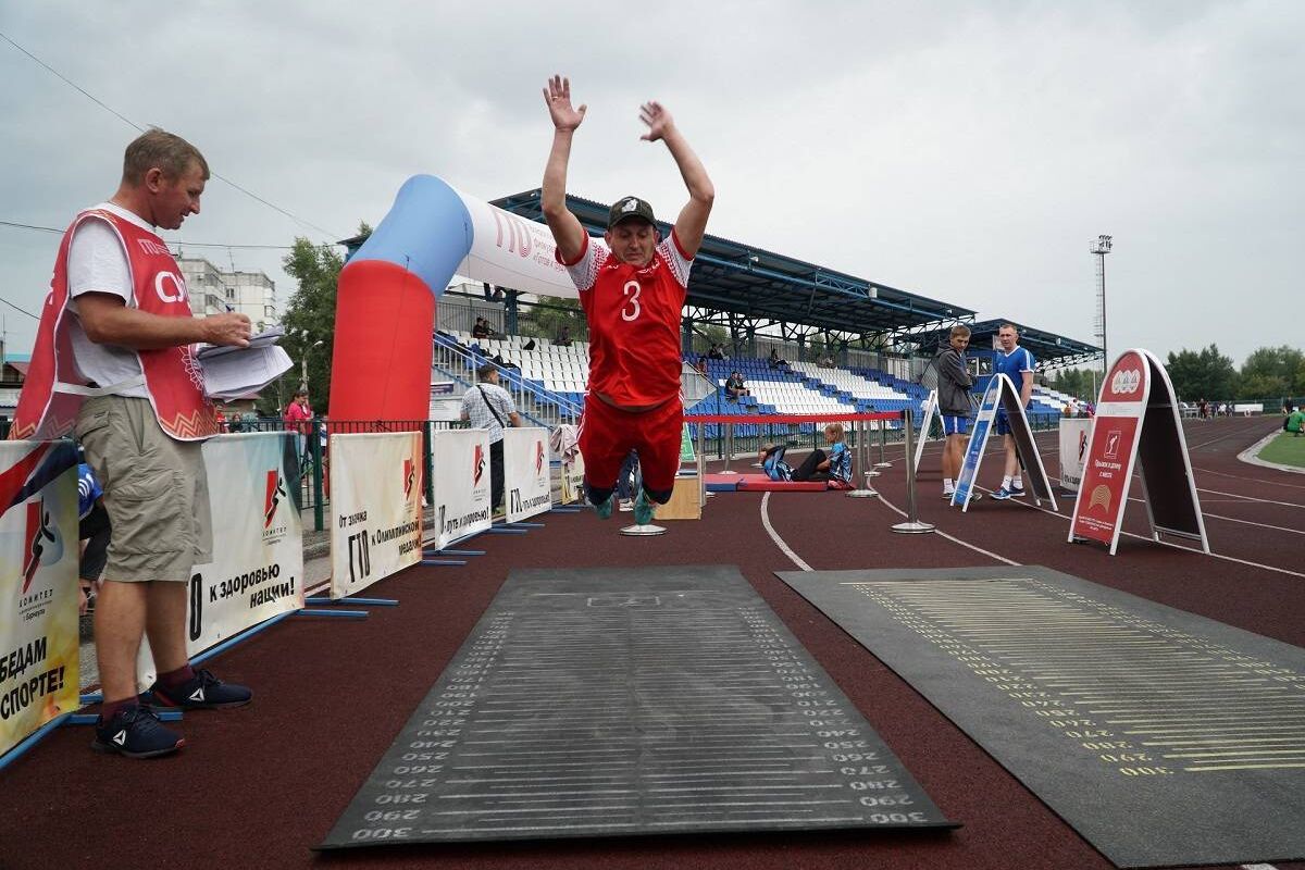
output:
[[[538,190],[502,197],[493,205],[543,220]],[[566,206],[587,231],[602,232],[608,206],[574,196],[568,196]],[[668,233],[671,227],[662,223],[660,230]],[[446,293],[435,337],[433,377],[465,386],[474,382],[479,364],[492,360],[500,363],[504,386],[529,419],[543,425],[574,421],[583,407],[589,373],[585,335],[576,334],[577,340],[564,347],[517,334],[518,316],[531,300],[510,288]],[[472,316],[485,317],[495,337],[474,338]],[[750,415],[917,410],[928,397],[919,377],[955,323],[974,331],[971,361],[975,391],[981,394],[992,372],[989,348],[1002,322],[1007,321],[975,322],[975,312],[955,303],[707,235],[694,261],[683,318],[686,372],[707,353],[707,327],[723,327],[728,346],[726,359],[706,360],[705,398],[686,411],[737,415],[735,433],[746,438],[761,434],[746,423]],[[1100,359],[1100,348],[1017,326],[1022,343],[1037,359],[1039,372]],[[771,350],[786,364],[770,365]],[[827,355],[825,365],[817,364],[817,355]],[[723,390],[733,370],[744,376],[750,393],[737,400],[727,399]],[[1067,400],[1045,386],[1036,387],[1031,421],[1053,425]],[[709,428],[707,436],[715,432]]]

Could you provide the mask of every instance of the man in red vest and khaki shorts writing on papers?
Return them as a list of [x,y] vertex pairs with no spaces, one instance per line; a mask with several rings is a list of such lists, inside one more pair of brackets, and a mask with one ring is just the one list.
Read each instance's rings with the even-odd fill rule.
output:
[[177,136],[151,129],[127,146],[117,193],[64,233],[10,436],[76,430],[104,489],[114,531],[95,608],[104,703],[91,746],[132,758],[184,742],[137,699],[142,635],[158,672],[154,704],[236,707],[252,697],[192,669],[185,650],[191,569],[211,561],[200,449],[217,433],[192,346],[249,343],[244,314],[191,314],[158,236],[200,213],[207,179],[204,157]]

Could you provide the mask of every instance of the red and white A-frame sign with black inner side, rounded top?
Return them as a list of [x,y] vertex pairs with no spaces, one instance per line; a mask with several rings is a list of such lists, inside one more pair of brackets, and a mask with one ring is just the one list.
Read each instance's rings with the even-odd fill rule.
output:
[[1141,348],[1114,360],[1101,383],[1070,541],[1101,541],[1114,554],[1138,460],[1152,540],[1160,540],[1161,532],[1190,537],[1208,553],[1173,382],[1160,360]]

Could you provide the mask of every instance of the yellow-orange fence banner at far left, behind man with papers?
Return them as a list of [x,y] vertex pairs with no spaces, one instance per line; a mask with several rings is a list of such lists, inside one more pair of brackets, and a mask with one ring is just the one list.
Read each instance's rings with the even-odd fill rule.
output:
[[0,441],[0,755],[77,710],[77,451]]

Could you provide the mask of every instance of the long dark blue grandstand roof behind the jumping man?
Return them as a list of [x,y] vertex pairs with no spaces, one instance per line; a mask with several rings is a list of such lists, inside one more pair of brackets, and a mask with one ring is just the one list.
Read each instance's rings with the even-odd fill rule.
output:
[[[539,190],[493,205],[543,220]],[[566,207],[590,232],[607,228],[609,206],[568,196]],[[659,222],[663,233],[671,224]],[[686,304],[776,323],[852,334],[908,333],[940,321],[971,320],[968,308],[928,299],[720,236],[705,236],[689,277]]]

